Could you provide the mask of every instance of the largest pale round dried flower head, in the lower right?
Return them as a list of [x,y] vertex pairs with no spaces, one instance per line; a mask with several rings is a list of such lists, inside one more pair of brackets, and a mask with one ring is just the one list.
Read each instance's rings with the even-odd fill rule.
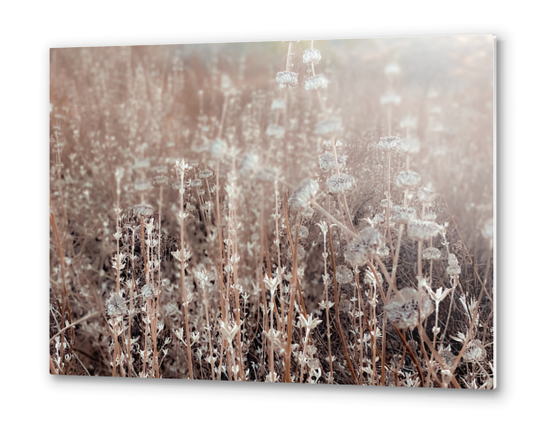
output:
[[434,305],[425,292],[407,287],[401,289],[384,310],[393,325],[412,330],[418,325],[418,321],[423,321],[433,312]]

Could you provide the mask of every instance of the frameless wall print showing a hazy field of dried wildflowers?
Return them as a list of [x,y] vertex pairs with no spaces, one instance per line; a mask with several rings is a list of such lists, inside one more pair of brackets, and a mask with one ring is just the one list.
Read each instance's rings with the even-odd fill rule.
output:
[[53,374],[494,387],[493,39],[53,49]]

